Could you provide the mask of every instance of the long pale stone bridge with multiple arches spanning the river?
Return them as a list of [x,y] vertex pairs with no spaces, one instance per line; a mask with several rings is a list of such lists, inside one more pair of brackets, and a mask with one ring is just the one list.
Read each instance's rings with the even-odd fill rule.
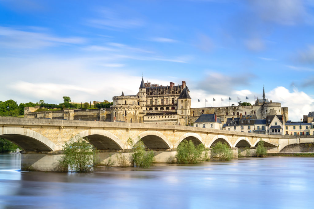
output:
[[62,154],[62,146],[82,137],[88,138],[100,150],[103,161],[111,154],[131,149],[127,144],[129,138],[134,142],[142,139],[148,149],[155,151],[157,162],[166,162],[169,153],[173,155],[184,139],[192,140],[196,145],[202,143],[205,148],[224,142],[235,149],[235,157],[237,148],[256,147],[260,140],[265,142],[268,152],[279,152],[290,144],[314,142],[313,136],[263,135],[177,125],[7,117],[0,117],[0,137],[25,150],[22,165],[36,165],[38,170],[55,170],[49,164],[56,163],[57,156]]

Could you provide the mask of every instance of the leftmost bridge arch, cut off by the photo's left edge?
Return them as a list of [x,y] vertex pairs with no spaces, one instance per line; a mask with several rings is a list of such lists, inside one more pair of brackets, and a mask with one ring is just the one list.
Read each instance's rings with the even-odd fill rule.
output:
[[54,151],[57,146],[47,137],[27,128],[2,127],[0,137],[8,139],[27,151]]

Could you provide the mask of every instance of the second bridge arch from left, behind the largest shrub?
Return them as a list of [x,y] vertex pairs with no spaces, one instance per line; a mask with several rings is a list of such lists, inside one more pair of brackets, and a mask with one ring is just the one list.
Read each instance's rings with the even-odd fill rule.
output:
[[87,129],[68,140],[72,144],[79,138],[87,137],[96,149],[125,149],[125,144],[113,133],[103,129]]

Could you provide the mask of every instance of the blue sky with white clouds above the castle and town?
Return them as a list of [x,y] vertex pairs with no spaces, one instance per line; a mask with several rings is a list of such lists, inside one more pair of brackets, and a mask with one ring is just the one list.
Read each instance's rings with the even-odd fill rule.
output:
[[[314,111],[314,1],[0,0],[0,100],[112,100],[186,81],[192,107],[254,95]],[[197,104],[197,98],[201,100]]]

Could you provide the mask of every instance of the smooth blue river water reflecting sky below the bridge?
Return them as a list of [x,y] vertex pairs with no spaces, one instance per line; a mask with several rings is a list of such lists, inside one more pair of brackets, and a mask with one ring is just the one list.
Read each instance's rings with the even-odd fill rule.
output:
[[314,208],[314,158],[242,158],[94,173],[21,172],[0,155],[2,208]]

